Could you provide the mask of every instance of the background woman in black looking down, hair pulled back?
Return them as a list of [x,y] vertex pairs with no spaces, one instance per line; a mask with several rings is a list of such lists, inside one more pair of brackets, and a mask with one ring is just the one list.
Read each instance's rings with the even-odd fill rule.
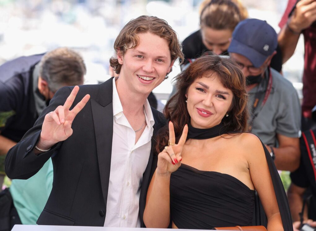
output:
[[[202,3],[200,14],[200,30],[192,33],[182,43],[185,56],[181,69],[192,59],[201,56],[205,51],[213,51],[217,55],[228,55],[234,28],[246,19],[248,14],[239,0],[206,0]],[[271,60],[271,67],[282,70],[282,55],[279,46]]]

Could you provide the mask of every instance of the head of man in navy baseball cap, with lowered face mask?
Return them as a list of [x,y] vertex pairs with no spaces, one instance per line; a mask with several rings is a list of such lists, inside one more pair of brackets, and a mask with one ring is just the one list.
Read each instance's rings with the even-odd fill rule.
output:
[[246,76],[247,86],[261,81],[276,47],[276,32],[266,21],[246,19],[235,27],[228,52]]

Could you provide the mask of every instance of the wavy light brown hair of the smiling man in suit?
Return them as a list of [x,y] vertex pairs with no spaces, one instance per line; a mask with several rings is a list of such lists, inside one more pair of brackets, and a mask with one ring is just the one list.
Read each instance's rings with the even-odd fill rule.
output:
[[[166,39],[171,53],[171,60],[180,58],[184,59],[182,53],[182,45],[179,43],[177,33],[169,26],[167,21],[157,18],[155,16],[142,15],[136,19],[129,21],[120,31],[118,37],[114,42],[114,50],[120,50],[124,56],[127,49],[133,49],[139,44],[139,37],[137,34],[150,32]],[[121,71],[122,65],[119,64],[117,57],[110,58],[110,65],[116,74]],[[170,72],[172,69],[170,70]]]

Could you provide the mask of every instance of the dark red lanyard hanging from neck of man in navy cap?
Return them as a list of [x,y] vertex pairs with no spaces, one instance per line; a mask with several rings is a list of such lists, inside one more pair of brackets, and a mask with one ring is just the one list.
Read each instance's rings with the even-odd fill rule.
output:
[[[261,82],[259,84],[259,87],[258,87],[258,91],[255,94],[255,98],[254,98],[254,101],[253,101],[253,104],[252,104],[252,110],[251,110],[251,112],[252,112],[251,116],[252,117],[251,117],[251,120],[249,122],[249,131],[252,130],[253,121],[258,116],[259,112],[262,110],[264,104],[267,102],[267,100],[269,98],[269,95],[271,93],[271,90],[272,90],[272,74],[271,74],[270,67],[268,68],[268,75],[269,75],[268,85],[267,85],[267,88],[265,89],[264,98],[263,98],[262,103],[261,103],[259,108],[258,108],[258,103],[259,103],[260,99],[263,96],[263,94],[262,94],[263,92],[261,92],[261,89],[263,88],[265,81],[261,80]],[[256,111],[256,109],[257,109],[257,111]],[[255,111],[256,111],[256,113],[255,113]]]

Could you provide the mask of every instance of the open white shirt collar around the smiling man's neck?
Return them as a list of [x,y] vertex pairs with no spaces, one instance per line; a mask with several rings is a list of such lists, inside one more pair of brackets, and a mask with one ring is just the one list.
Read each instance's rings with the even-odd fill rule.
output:
[[[146,102],[144,104],[144,111],[145,111],[147,126],[153,129],[155,120],[154,120],[154,116],[151,111],[148,99],[146,99]],[[113,78],[113,116],[115,117],[115,119],[119,119],[122,116],[122,114],[123,114],[123,107],[119,99],[119,93],[116,89],[115,78]]]

